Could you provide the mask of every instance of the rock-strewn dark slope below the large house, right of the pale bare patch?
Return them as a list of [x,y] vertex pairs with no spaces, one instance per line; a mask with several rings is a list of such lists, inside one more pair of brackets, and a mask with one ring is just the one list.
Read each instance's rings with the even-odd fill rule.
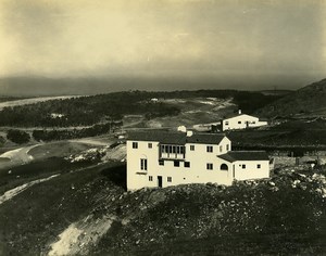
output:
[[[112,230],[90,252],[324,255],[324,172],[290,169],[269,180],[231,187],[186,184],[125,193],[116,200]],[[114,208],[112,201],[108,204],[97,213]]]

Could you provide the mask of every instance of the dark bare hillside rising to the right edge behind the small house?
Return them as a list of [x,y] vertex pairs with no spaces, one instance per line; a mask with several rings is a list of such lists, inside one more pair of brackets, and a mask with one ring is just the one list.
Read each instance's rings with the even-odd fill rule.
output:
[[259,116],[292,116],[315,114],[326,116],[326,79],[303,87],[256,111]]

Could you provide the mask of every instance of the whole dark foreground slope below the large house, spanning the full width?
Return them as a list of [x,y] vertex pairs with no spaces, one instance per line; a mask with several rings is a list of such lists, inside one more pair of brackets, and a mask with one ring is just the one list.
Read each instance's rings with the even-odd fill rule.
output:
[[283,170],[271,180],[228,188],[191,184],[130,193],[125,166],[109,163],[36,184],[1,204],[0,216],[3,255],[47,254],[72,223],[84,220],[82,229],[89,218],[96,225],[103,216],[113,220],[108,231],[95,243],[85,238],[95,240],[100,230],[83,231],[70,253],[326,254],[324,170]]

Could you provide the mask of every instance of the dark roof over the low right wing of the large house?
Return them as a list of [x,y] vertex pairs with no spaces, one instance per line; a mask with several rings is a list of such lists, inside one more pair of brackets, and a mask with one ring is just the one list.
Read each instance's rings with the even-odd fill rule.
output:
[[217,155],[217,157],[227,162],[236,161],[268,161],[268,155],[265,151],[229,151],[226,154]]

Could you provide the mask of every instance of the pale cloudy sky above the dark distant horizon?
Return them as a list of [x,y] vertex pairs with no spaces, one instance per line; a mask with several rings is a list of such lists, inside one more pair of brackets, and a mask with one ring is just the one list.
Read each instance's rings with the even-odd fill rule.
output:
[[296,88],[326,77],[325,28],[325,0],[0,0],[0,77]]

